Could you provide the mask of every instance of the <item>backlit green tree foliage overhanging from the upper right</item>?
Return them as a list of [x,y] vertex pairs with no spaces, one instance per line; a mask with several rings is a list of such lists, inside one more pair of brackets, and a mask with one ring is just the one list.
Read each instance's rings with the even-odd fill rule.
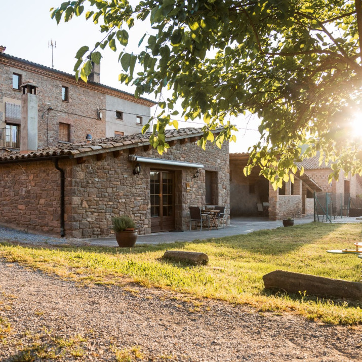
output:
[[[86,55],[97,63],[105,47],[122,50],[119,80],[135,85],[136,97],[160,95],[150,138],[160,152],[181,99],[185,119],[205,122],[201,147],[235,139],[230,117],[257,114],[261,140],[245,172],[259,165],[275,187],[317,151],[332,160],[335,177],[340,169],[362,173],[360,141],[349,127],[361,114],[361,0],[78,0],[51,9],[52,17],[80,16],[85,3],[93,9],[86,18],[105,36],[94,49],[79,49],[76,76],[87,81]],[[154,33],[142,36],[139,54],[129,54],[135,19],[150,22]],[[142,71],[135,74],[137,62]],[[163,99],[166,89],[172,96]],[[209,131],[219,126],[214,139]]]

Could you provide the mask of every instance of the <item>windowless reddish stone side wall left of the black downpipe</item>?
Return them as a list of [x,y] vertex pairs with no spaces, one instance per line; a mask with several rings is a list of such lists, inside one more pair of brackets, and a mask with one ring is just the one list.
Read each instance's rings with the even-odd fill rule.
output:
[[60,173],[54,163],[0,165],[0,223],[60,236]]

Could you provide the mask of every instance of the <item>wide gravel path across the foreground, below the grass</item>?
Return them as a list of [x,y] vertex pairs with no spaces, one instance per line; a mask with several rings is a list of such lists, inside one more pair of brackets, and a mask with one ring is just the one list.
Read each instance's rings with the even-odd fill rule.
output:
[[361,353],[359,327],[134,284],[83,287],[0,259],[1,361],[360,361]]

